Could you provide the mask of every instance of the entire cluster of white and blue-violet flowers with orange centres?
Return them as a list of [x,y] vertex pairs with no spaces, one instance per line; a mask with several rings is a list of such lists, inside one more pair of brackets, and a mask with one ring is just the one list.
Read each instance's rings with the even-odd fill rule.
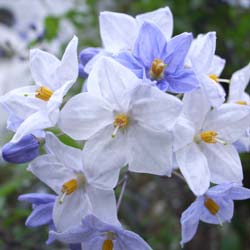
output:
[[[233,200],[250,198],[242,187],[239,152],[250,151],[250,65],[220,77],[225,60],[215,54],[216,33],[172,37],[168,7],[134,17],[102,12],[102,48],[80,53],[78,39],[61,60],[33,49],[35,85],[0,98],[15,132],[2,150],[54,194],[25,194],[32,203],[29,227],[47,224],[47,243],[70,249],[151,249],[118,220],[127,172],[182,178],[196,196],[181,216],[181,245],[199,220],[222,224]],[[82,92],[64,98],[80,76]],[[221,83],[229,84],[229,95]],[[62,143],[58,128],[83,149]],[[39,155],[39,147],[46,153]],[[119,181],[119,182],[118,182]],[[122,185],[116,203],[114,188]]]

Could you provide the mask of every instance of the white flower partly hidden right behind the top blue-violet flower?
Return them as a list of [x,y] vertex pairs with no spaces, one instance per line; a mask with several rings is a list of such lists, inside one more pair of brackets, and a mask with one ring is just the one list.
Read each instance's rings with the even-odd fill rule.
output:
[[185,65],[194,70],[209,105],[218,107],[225,101],[225,91],[219,84],[225,60],[215,55],[215,48],[215,32],[199,35],[191,44]]

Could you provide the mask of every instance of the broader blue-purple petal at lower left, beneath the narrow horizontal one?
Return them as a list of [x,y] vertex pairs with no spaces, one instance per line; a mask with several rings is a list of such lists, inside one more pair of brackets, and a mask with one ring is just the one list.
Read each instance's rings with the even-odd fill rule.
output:
[[41,204],[35,207],[25,222],[27,227],[38,227],[52,222],[54,203]]

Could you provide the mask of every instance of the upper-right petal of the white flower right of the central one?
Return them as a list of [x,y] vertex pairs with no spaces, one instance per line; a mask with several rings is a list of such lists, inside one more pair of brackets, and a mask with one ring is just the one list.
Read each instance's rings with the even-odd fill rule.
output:
[[250,108],[227,103],[208,113],[203,130],[214,130],[227,143],[238,140],[249,127]]

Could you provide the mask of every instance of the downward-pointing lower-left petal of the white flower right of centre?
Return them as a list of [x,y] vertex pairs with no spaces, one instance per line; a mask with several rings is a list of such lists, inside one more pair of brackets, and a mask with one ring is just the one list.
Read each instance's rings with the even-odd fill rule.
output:
[[188,186],[197,196],[204,194],[210,185],[207,159],[195,143],[176,152],[176,160]]

